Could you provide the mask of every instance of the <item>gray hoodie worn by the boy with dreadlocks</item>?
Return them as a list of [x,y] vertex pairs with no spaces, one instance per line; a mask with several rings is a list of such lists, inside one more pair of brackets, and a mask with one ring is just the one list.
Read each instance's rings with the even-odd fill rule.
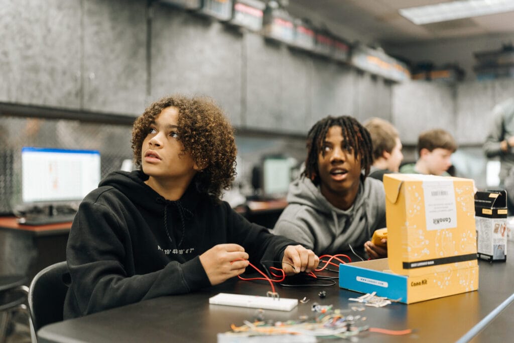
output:
[[319,186],[301,176],[291,183],[289,205],[272,230],[312,249],[316,255],[363,251],[376,229],[386,227],[386,193],[383,184],[367,177],[361,181],[353,206],[341,210],[329,203]]

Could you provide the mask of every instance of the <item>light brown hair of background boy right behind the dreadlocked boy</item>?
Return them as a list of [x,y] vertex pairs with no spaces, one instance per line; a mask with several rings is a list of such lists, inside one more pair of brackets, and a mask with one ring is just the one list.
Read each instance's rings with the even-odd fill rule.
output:
[[391,153],[396,147],[396,138],[399,138],[398,131],[393,124],[381,118],[371,118],[364,123],[373,143],[373,160],[382,157],[383,152]]

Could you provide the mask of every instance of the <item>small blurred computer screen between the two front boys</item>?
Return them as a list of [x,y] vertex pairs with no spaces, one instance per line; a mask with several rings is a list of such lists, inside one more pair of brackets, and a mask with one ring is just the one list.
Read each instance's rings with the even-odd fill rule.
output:
[[262,163],[262,191],[265,196],[287,194],[291,182],[291,163],[287,157],[265,157]]

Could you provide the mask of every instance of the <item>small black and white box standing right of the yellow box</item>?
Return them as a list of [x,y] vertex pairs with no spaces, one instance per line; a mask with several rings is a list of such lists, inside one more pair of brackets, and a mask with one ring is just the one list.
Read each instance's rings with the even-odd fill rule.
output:
[[478,191],[475,194],[477,256],[486,261],[507,260],[507,192]]

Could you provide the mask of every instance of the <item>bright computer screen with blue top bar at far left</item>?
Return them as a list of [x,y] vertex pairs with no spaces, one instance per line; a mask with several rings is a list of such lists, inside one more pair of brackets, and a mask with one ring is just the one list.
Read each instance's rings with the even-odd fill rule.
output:
[[22,148],[22,201],[80,201],[100,182],[100,152]]

